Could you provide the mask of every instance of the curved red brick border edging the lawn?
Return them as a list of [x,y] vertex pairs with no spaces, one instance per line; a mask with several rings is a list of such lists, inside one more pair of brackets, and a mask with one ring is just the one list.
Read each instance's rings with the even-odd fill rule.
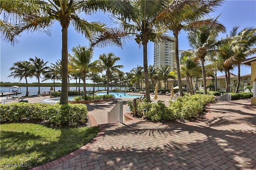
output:
[[96,137],[94,137],[90,142],[88,142],[86,145],[80,147],[79,149],[75,150],[74,152],[71,152],[69,154],[67,154],[66,156],[62,156],[59,159],[53,160],[51,162],[48,162],[46,164],[43,164],[41,166],[37,166],[35,168],[32,168],[31,170],[47,170],[50,169],[58,164],[61,164],[67,160],[69,160],[70,158],[74,158],[76,155],[86,151],[87,149],[89,149],[90,147],[92,147],[95,143],[97,143],[102,136],[105,133],[105,125],[97,125],[97,122],[95,120],[95,118],[92,115],[89,115],[89,118],[92,122],[92,126],[99,126],[100,127],[100,131],[99,133],[96,135]]

